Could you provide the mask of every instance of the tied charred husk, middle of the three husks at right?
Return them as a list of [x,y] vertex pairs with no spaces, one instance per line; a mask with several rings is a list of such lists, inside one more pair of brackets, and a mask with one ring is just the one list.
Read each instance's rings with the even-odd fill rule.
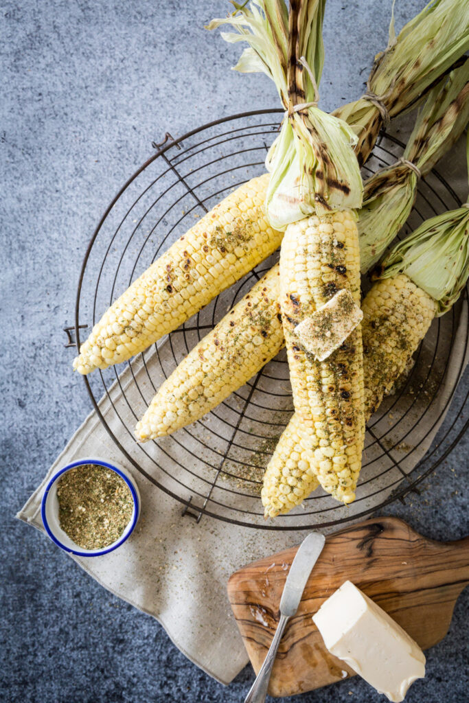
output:
[[[469,59],[428,93],[402,156],[422,176],[461,136],[469,120]],[[417,194],[418,174],[399,160],[378,171],[364,187],[359,213],[361,272],[381,255],[409,217]]]

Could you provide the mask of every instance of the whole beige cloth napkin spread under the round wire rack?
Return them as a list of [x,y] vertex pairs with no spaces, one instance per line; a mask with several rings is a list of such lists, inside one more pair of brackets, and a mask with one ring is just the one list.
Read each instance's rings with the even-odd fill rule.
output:
[[[466,176],[461,175],[465,174],[463,153],[456,151],[456,155],[458,166],[455,167],[455,159],[451,157],[443,172],[449,171],[451,183],[457,183],[454,187],[461,197],[465,198]],[[454,328],[451,328],[449,318],[453,313],[442,318],[439,339],[445,339],[446,335],[450,356],[437,400],[430,406],[430,410],[423,414],[423,419],[420,420],[416,429],[406,438],[406,446],[401,448],[398,446],[392,451],[394,458],[403,460],[402,465],[406,471],[415,466],[430,447],[448,409],[451,393],[461,378],[467,362],[465,358],[468,335],[467,309],[459,304],[454,314],[456,320]],[[454,333],[451,350],[449,350],[450,330]],[[169,346],[167,340],[161,340],[158,351],[160,359],[163,361],[165,354],[168,355],[168,359],[172,359],[172,351],[168,349]],[[425,347],[428,347],[426,352]],[[431,332],[424,342],[423,353],[420,354],[419,363],[422,366],[420,369],[422,373],[425,373],[423,361],[429,358],[428,354],[431,358]],[[151,361],[152,359],[149,359],[147,363],[151,363]],[[111,401],[121,416],[122,422],[127,427],[131,427],[134,425],[134,415],[131,413],[130,406],[143,413],[145,409],[143,397],[150,399],[153,395],[148,375],[145,368],[142,368],[141,361],[137,360],[133,363],[132,370],[134,375],[130,373],[129,368],[124,370],[120,375],[120,383],[115,382],[109,395],[101,399],[100,411],[110,429],[118,437],[122,437],[127,451],[131,456],[135,456],[146,472],[150,475],[157,473],[152,457],[160,465],[167,467],[169,471],[177,472],[178,467],[173,465],[174,462],[163,453],[165,446],[169,446],[169,444],[165,444],[165,439],[158,446],[155,443],[149,443],[150,456],[145,456],[141,451],[137,451],[138,448],[130,436],[123,437],[125,433],[122,431],[122,423],[113,410]],[[136,387],[135,380],[143,392],[143,397]],[[122,389],[124,389],[127,399],[122,395]],[[422,401],[425,402],[424,395]],[[439,417],[440,412],[442,412],[442,417],[435,425],[435,418]],[[409,427],[413,424],[412,413],[422,415],[418,403],[414,404],[411,413],[406,415]],[[420,415],[418,416],[420,417]],[[380,423],[388,421],[389,418],[384,417]],[[211,418],[210,422],[214,423],[216,427],[217,420],[215,418]],[[186,438],[187,441],[191,441],[188,435],[184,436],[181,440],[181,447],[177,450],[183,457],[182,459],[179,457],[181,463],[187,461],[188,455],[184,454],[183,446]],[[393,439],[392,431],[388,439]],[[167,439],[168,443],[171,441],[171,438]],[[409,446],[414,446],[416,449],[408,458],[405,458],[409,453]],[[172,446],[172,451],[176,451],[174,446]],[[366,453],[372,454],[373,451],[375,448],[367,449]],[[116,461],[132,470],[113,440],[110,439],[96,413],[91,413],[70,439],[64,451],[51,466],[42,484],[18,513],[20,520],[32,524],[37,529],[44,530],[40,505],[46,482],[65,464],[79,458],[92,456],[104,456],[111,462]],[[390,461],[387,457],[383,457],[370,463],[369,459],[368,456],[368,467],[366,468],[368,473],[377,470],[377,466],[381,465],[383,461]],[[182,471],[181,468],[179,470]],[[197,524],[191,517],[181,517],[181,503],[155,488],[148,482],[148,479],[139,475],[135,470],[132,472],[139,484],[142,499],[141,517],[134,534],[118,550],[103,557],[72,558],[109,591],[127,600],[139,610],[155,617],[165,628],[176,647],[179,647],[181,652],[186,654],[186,657],[210,676],[227,684],[248,662],[248,656],[226,595],[226,583],[230,574],[248,562],[299,543],[307,533],[300,530],[266,532],[239,527],[207,516],[204,516]],[[177,479],[177,477],[176,473],[174,478]],[[373,484],[373,490],[368,489],[369,494],[363,501],[352,503],[349,508],[338,508],[333,517],[340,517],[340,511],[344,511],[345,516],[345,511],[348,510],[347,516],[350,517],[361,510],[373,508],[374,505],[391,494],[400,480],[401,475],[390,464],[390,468],[383,478]],[[187,485],[186,474],[184,474],[184,482]],[[196,483],[196,479],[194,482]],[[370,485],[368,484],[368,486]],[[376,495],[376,489],[383,489],[383,491]],[[330,500],[332,501],[332,499]],[[301,511],[299,512],[298,524],[308,524],[311,519],[302,516]],[[324,513],[324,515],[327,515],[326,519],[330,520],[330,513]]]

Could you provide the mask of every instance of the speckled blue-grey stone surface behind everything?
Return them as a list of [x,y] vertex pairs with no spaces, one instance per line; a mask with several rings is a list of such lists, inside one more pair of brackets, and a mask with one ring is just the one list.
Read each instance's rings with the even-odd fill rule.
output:
[[[385,47],[390,4],[328,0],[324,108],[359,95]],[[398,0],[397,27],[423,4]],[[276,105],[274,86],[230,72],[238,49],[203,30],[226,14],[220,0],[4,0],[0,8],[0,699],[238,702],[252,681],[249,667],[229,688],[219,685],[153,619],[104,591],[14,515],[90,410],[82,380],[70,373],[62,328],[73,321],[79,266],[103,209],[153,139]],[[466,440],[420,497],[387,513],[432,538],[467,534],[468,449]],[[409,702],[467,699],[468,634],[466,593]],[[382,699],[358,678],[297,698]]]

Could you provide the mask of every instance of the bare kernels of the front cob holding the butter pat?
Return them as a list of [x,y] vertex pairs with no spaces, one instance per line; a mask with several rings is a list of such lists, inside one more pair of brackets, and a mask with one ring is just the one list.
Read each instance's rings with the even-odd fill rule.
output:
[[[298,432],[323,489],[350,503],[365,434],[361,328],[323,361],[308,354],[295,335],[300,322],[342,289],[360,304],[359,240],[352,212],[314,215],[289,225],[281,248],[280,304],[293,402],[302,420]],[[323,441],[314,450],[318,437]],[[345,458],[340,479],[334,456]]]

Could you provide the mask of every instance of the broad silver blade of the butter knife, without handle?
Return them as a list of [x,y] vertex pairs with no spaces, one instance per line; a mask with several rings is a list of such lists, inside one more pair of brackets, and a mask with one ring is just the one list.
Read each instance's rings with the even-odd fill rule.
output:
[[280,601],[282,615],[292,617],[297,612],[304,586],[323,550],[325,541],[323,534],[311,532],[300,544],[283,587]]

